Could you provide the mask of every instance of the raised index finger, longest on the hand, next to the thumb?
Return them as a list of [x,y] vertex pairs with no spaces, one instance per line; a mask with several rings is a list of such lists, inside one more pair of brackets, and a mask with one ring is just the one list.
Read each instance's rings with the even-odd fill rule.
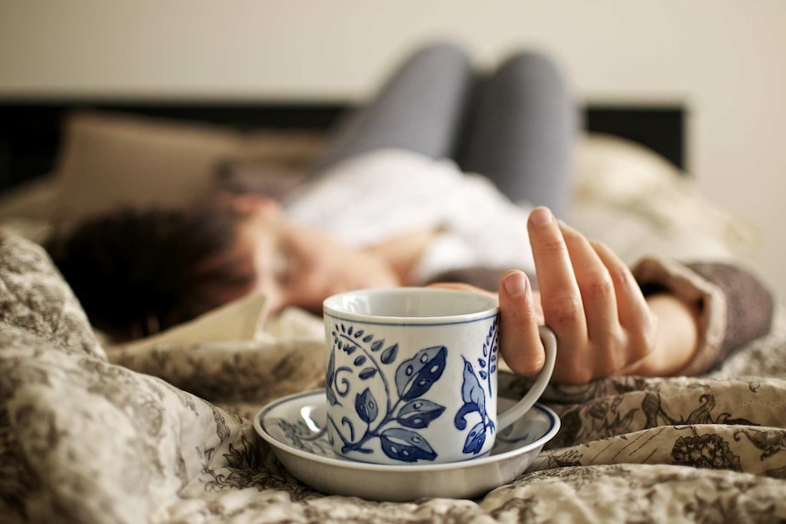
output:
[[[562,231],[547,208],[535,208],[527,221],[543,317],[564,347],[587,340],[584,303]],[[559,356],[558,356],[559,358]]]

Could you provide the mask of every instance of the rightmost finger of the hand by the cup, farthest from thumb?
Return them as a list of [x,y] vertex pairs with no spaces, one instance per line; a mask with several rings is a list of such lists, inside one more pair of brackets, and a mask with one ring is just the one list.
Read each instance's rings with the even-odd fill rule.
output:
[[655,345],[656,320],[626,263],[604,243],[594,241],[592,245],[614,283],[619,322],[626,331],[630,348],[626,364],[630,365],[652,351]]

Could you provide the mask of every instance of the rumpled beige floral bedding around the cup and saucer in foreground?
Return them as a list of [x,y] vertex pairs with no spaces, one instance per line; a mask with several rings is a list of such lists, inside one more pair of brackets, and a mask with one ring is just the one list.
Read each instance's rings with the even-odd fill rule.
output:
[[712,375],[551,387],[562,428],[529,471],[406,503],[321,494],[254,434],[264,403],[318,387],[318,339],[105,349],[47,253],[7,234],[0,326],[4,522],[786,519],[782,320]]

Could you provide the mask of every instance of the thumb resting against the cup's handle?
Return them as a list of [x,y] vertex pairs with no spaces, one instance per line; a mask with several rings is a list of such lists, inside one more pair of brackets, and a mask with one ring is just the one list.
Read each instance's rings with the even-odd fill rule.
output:
[[545,353],[530,281],[521,271],[505,272],[499,294],[502,358],[517,375],[536,375],[543,368]]

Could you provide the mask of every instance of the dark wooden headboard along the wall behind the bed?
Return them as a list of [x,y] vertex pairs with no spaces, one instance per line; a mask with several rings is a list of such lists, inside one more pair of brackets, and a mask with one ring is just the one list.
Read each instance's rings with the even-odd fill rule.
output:
[[[264,101],[99,101],[0,99],[0,191],[47,174],[54,165],[63,118],[96,109],[229,125],[235,128],[326,129],[350,106]],[[681,106],[584,105],[584,129],[632,139],[685,167]]]

